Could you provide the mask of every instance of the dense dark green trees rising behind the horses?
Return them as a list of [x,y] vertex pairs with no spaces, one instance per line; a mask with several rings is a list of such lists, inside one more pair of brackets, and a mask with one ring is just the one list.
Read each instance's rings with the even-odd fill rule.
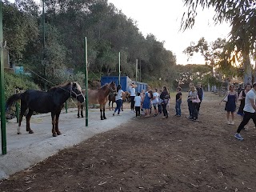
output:
[[[142,66],[142,81],[160,77],[169,81],[173,78],[172,67],[176,65],[176,58],[172,51],[166,50],[164,42],[159,42],[154,34],[145,38],[136,22],[113,4],[106,0],[45,2],[44,27],[43,15],[34,1],[4,2],[4,21],[8,21],[4,23],[4,30],[10,45],[10,58],[25,69],[33,70],[36,74],[33,78],[38,85],[44,86],[42,78],[54,84],[67,80],[70,77],[65,71],[69,68],[76,73],[83,71],[85,37],[89,71],[94,74],[118,74],[120,52],[122,75],[135,79],[135,62],[138,59]],[[50,86],[49,83],[47,85]]]

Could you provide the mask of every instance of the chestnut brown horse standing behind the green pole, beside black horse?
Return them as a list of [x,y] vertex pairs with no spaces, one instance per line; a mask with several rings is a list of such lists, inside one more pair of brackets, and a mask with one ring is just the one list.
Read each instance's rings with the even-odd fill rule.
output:
[[[116,86],[114,82],[110,82],[98,90],[90,90],[88,89],[88,103],[89,104],[99,104],[100,106],[100,111],[101,111],[101,120],[106,119],[105,116],[105,105],[107,102],[108,95],[110,93],[114,93],[116,91]],[[84,103],[79,103],[78,102],[78,118],[79,118],[79,111],[81,110],[81,117],[83,117],[82,110],[84,108]],[[103,111],[103,114],[102,114]]]

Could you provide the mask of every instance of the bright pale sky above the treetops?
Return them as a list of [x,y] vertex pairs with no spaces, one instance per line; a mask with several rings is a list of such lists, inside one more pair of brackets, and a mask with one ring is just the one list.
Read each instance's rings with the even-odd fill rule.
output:
[[[41,3],[42,0],[35,0]],[[14,2],[14,0],[10,0]],[[207,42],[217,38],[228,38],[230,25],[214,25],[214,10],[203,10],[198,7],[198,16],[192,30],[180,31],[182,14],[186,11],[182,0],[108,0],[127,18],[136,21],[138,29],[146,37],[154,34],[159,42],[165,42],[166,50],[171,50],[177,58],[177,64],[204,64],[201,54],[195,54],[188,60],[182,51],[190,42],[198,42],[202,37]]]

